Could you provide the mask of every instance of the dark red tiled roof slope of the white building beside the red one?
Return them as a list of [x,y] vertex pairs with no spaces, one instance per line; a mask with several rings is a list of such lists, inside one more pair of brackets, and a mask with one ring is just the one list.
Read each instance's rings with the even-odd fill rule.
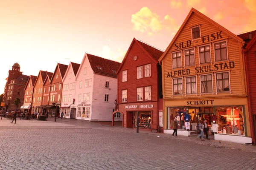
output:
[[87,54],[90,65],[94,73],[102,74],[109,77],[117,77],[116,71],[121,65],[120,62],[115,62],[110,59]]

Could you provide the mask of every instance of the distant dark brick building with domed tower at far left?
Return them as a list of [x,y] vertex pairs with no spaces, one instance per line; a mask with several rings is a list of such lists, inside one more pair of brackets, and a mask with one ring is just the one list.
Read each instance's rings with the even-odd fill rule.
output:
[[3,102],[5,103],[5,110],[15,110],[15,99],[20,98],[20,103],[17,109],[23,105],[24,88],[29,76],[23,75],[20,71],[20,65],[16,62],[9,70],[9,75],[6,78],[7,82],[3,93]]

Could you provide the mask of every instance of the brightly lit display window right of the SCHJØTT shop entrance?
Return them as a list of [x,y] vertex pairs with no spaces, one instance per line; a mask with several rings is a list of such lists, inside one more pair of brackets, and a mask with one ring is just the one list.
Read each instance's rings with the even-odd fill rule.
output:
[[244,114],[241,106],[215,107],[215,132],[223,134],[244,135]]

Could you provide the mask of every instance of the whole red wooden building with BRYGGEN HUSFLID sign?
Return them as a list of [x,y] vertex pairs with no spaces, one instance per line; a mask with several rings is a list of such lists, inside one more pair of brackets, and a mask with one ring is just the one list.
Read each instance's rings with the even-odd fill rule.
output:
[[[122,115],[122,126],[139,127],[149,130],[160,130],[163,113],[162,71],[158,59],[163,54],[151,45],[132,40],[130,47],[117,71],[118,91],[116,114]],[[161,105],[159,105],[161,103]],[[160,127],[159,127],[160,125]]]

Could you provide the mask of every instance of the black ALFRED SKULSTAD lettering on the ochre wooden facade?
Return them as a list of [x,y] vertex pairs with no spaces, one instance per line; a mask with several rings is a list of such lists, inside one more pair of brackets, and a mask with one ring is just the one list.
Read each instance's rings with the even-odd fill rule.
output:
[[[224,63],[219,63],[215,65],[205,65],[201,67],[196,67],[194,70],[194,74],[198,73],[207,73],[211,71],[218,71],[218,70],[225,70],[225,69],[230,69],[235,67],[235,62],[230,61],[230,62],[224,62]],[[183,69],[183,70],[176,70],[176,71],[171,71],[168,72],[167,78],[168,77],[176,77],[176,76],[187,76],[191,73],[190,69]]]

